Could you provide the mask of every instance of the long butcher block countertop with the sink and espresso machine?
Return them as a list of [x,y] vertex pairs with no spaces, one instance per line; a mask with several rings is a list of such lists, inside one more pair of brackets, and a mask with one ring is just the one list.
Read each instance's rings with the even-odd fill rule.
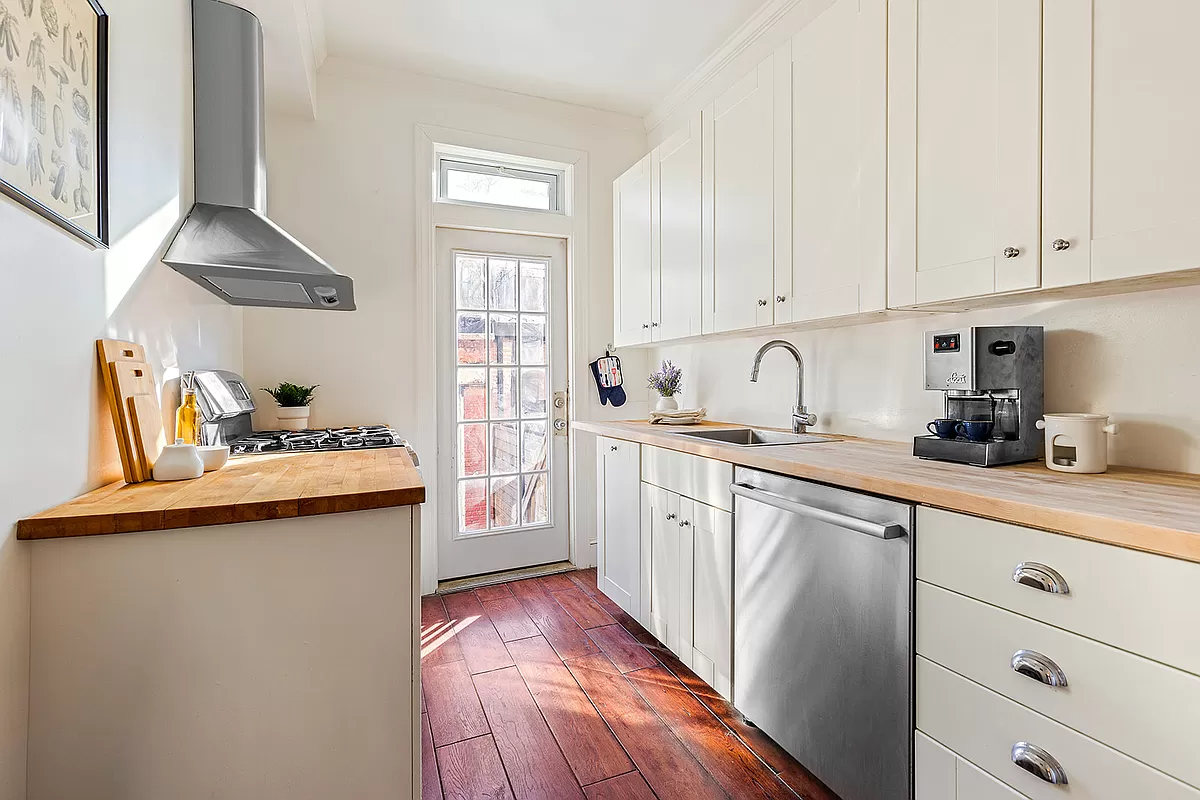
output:
[[983,469],[914,458],[910,443],[851,437],[737,447],[676,435],[695,428],[642,421],[575,423],[576,431],[612,439],[1200,563],[1200,475],[1122,467],[1074,475],[1040,462]]

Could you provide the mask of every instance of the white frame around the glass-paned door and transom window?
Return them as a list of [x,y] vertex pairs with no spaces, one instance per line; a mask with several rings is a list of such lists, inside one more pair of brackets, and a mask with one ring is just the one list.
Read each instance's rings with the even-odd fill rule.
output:
[[[443,455],[438,452],[438,432],[442,429],[444,409],[438,403],[437,386],[444,378],[438,369],[438,331],[449,325],[446,309],[438,305],[437,293],[437,228],[458,228],[487,233],[551,236],[566,243],[566,385],[568,421],[578,419],[576,409],[584,409],[584,402],[576,397],[587,389],[588,337],[590,330],[588,297],[588,156],[580,150],[509,139],[481,133],[469,133],[432,125],[415,126],[414,206],[415,229],[415,294],[416,315],[413,341],[418,349],[416,373],[413,375],[412,402],[416,410],[418,429],[410,439],[418,453],[426,457],[421,473],[426,485],[426,501],[421,506],[421,594],[433,593],[438,585],[438,531],[442,492],[438,480]],[[563,213],[545,211],[521,211],[472,205],[436,203],[438,154],[463,150],[503,152],[541,166],[554,166],[564,173]],[[425,176],[425,178],[422,178]],[[427,179],[427,180],[426,180]],[[568,545],[570,560],[578,567],[592,566],[590,541],[595,539],[595,523],[587,524],[578,513],[577,487],[581,479],[594,481],[592,451],[581,452],[578,437],[568,435]]]

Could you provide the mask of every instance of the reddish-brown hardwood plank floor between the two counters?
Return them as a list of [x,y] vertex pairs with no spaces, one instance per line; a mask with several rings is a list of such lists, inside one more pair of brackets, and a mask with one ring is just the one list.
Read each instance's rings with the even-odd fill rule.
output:
[[838,800],[596,589],[421,600],[422,798]]

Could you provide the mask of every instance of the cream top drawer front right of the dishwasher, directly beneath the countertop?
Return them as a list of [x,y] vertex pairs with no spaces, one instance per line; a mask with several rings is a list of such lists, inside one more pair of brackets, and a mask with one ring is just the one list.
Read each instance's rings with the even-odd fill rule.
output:
[[[1022,563],[1068,593],[1016,583]],[[1200,675],[1200,564],[922,507],[917,577]]]

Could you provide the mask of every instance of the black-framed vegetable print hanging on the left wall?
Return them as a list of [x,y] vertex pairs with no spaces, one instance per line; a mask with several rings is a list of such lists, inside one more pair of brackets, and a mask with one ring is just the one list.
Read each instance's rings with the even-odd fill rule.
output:
[[108,14],[0,0],[0,192],[108,246]]

